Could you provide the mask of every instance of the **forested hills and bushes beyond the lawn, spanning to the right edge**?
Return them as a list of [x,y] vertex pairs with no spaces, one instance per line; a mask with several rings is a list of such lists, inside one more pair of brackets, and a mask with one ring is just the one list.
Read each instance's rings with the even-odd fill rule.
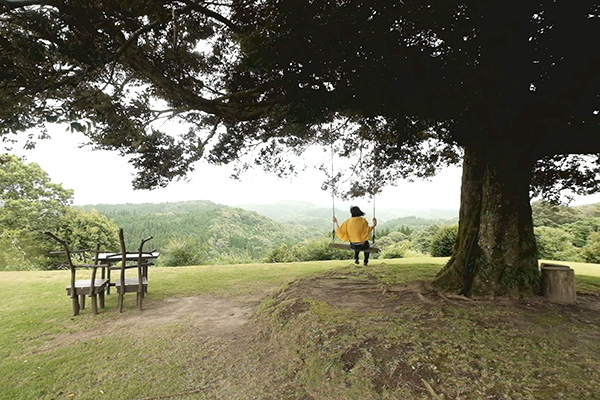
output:
[[[331,240],[331,210],[307,202],[229,207],[185,201],[83,208],[96,210],[124,228],[130,248],[153,236],[150,246],[165,255],[163,265],[349,257],[326,249]],[[534,202],[532,208],[540,258],[600,262],[600,204],[568,207]],[[382,210],[384,217],[377,215],[380,257],[450,255],[458,212],[422,210],[421,216],[407,216],[408,212]],[[336,210],[336,215],[344,219],[347,212]]]

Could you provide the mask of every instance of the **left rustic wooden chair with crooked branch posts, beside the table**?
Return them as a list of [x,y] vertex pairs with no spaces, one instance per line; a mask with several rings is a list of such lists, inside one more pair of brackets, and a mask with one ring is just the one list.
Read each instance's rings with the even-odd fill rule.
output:
[[[51,232],[45,232],[52,239],[61,244],[64,251],[54,251],[50,254],[64,254],[67,258],[67,264],[63,264],[71,271],[71,283],[67,286],[67,295],[71,297],[73,303],[73,316],[79,315],[79,311],[85,308],[85,296],[92,299],[92,313],[98,314],[98,298],[100,299],[100,308],[104,308],[104,292],[108,288],[108,279],[96,279],[98,268],[108,268],[108,265],[98,263],[98,253],[100,245],[96,250],[71,250],[67,243]],[[93,253],[93,264],[76,264],[73,262],[72,255],[75,253]],[[77,270],[87,268],[92,270],[90,279],[77,280]]]

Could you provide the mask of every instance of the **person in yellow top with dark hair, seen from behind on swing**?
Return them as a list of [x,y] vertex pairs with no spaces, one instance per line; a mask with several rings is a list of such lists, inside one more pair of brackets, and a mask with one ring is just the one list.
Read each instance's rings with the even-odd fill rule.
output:
[[373,226],[369,226],[366,219],[363,218],[365,215],[360,208],[354,206],[350,207],[350,214],[352,217],[345,220],[342,225],[338,225],[337,218],[333,217],[333,222],[337,227],[335,233],[343,241],[350,242],[350,248],[354,250],[354,263],[358,264],[358,256],[361,251],[364,252],[364,264],[369,264],[369,252],[365,251],[369,249],[369,237],[375,226],[377,226],[377,219],[373,218]]

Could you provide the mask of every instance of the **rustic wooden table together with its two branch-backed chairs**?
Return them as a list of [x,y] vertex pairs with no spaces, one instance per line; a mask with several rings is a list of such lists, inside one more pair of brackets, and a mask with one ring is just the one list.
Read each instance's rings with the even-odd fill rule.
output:
[[[101,252],[100,245],[96,245],[93,250],[70,249],[66,241],[52,232],[45,233],[60,243],[63,248],[62,251],[53,251],[50,254],[64,255],[66,258],[67,262],[62,266],[71,272],[71,281],[66,289],[73,303],[74,316],[85,308],[86,296],[91,300],[92,313],[98,314],[98,306],[104,308],[105,294],[110,294],[111,287],[116,289],[118,295],[119,312],[123,312],[125,293],[136,293],[137,308],[142,311],[142,300],[144,294],[148,292],[148,267],[154,265],[154,260],[160,255],[156,250],[144,250],[144,245],[152,239],[152,236],[142,239],[137,251],[127,251],[123,229],[119,229],[120,251],[110,253]],[[93,261],[80,263],[78,260],[81,259],[81,255],[87,255],[87,260]],[[88,279],[77,279],[77,271],[82,269],[91,271]],[[112,279],[111,271],[117,272],[115,279]],[[128,271],[131,271],[129,275],[133,276],[127,277]]]

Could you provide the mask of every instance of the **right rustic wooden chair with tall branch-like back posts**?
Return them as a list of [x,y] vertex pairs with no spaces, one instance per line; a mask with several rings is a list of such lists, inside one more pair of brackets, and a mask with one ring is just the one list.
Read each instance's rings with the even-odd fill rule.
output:
[[[140,247],[137,251],[137,259],[135,262],[127,263],[127,248],[125,247],[125,236],[123,229],[119,229],[119,242],[121,243],[121,254],[115,255],[115,257],[121,258],[121,265],[111,267],[113,270],[119,270],[119,279],[115,280],[115,288],[119,295],[117,307],[119,312],[123,312],[123,300],[125,293],[136,293],[137,307],[138,310],[142,311],[142,300],[144,299],[144,293],[148,291],[148,266],[154,265],[144,257],[144,244],[152,239],[152,236],[142,239]],[[135,278],[126,278],[125,271],[128,269],[137,270],[137,276]]]

